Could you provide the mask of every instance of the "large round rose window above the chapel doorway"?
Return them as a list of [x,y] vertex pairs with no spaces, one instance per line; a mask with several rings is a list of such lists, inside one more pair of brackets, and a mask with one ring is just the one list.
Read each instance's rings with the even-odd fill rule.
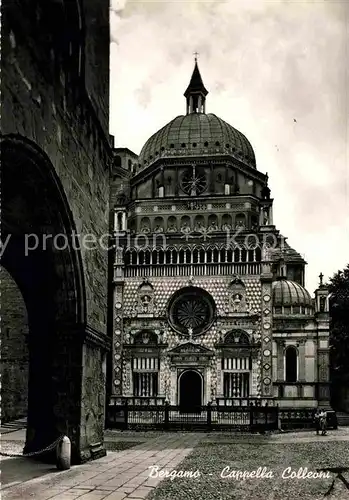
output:
[[184,288],[170,300],[168,318],[177,332],[188,335],[204,333],[212,325],[214,317],[213,298],[202,288]]

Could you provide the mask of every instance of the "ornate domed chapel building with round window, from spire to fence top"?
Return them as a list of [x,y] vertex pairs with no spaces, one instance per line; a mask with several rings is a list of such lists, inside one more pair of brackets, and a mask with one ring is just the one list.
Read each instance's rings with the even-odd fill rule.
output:
[[304,288],[268,176],[207,94],[195,61],[186,114],[114,151],[111,400],[329,406],[327,288]]

